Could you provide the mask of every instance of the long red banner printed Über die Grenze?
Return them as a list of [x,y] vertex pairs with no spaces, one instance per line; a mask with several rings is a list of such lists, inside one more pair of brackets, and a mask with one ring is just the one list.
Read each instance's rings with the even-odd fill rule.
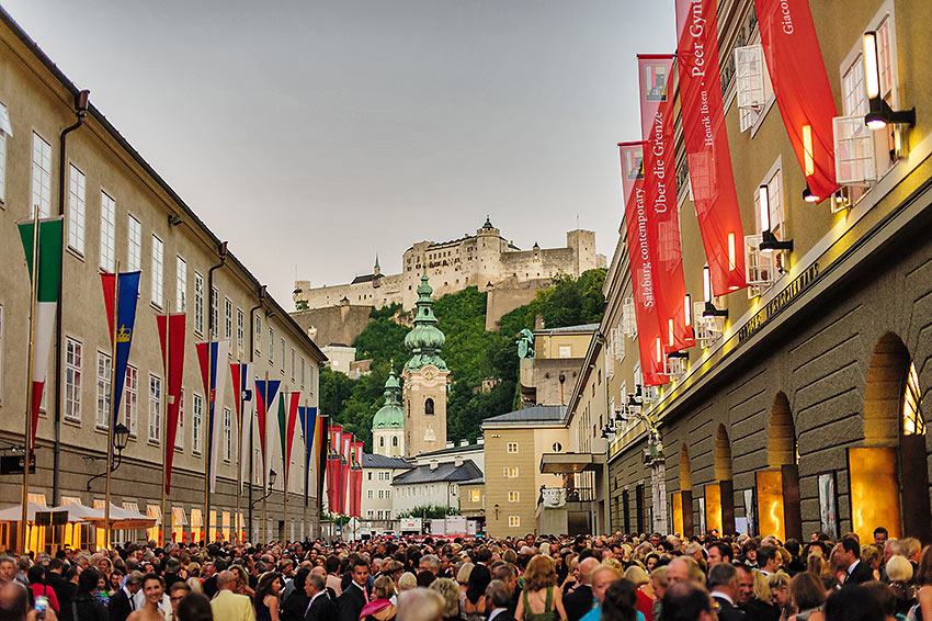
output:
[[673,74],[672,55],[637,57],[644,154],[644,192],[647,204],[648,244],[653,259],[653,292],[664,352],[695,345],[683,315],[686,285],[680,250],[680,215],[677,208],[673,102],[668,84]]

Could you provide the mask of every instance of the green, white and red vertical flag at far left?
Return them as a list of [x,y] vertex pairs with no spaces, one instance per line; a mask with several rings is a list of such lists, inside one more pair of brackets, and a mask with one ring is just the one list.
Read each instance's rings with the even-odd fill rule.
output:
[[38,422],[38,407],[42,392],[48,375],[48,354],[55,337],[55,313],[58,310],[58,285],[61,282],[61,241],[62,217],[38,221],[38,248],[33,249],[35,223],[22,221],[20,237],[26,253],[30,279],[33,274],[33,258],[37,259],[35,289],[35,315],[33,316],[33,368],[32,368],[32,438],[29,439],[30,453],[35,451],[35,428]]

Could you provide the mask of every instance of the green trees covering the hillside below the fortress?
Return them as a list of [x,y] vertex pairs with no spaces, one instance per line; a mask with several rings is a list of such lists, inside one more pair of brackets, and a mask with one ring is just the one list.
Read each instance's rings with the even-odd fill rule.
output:
[[[602,320],[605,270],[589,270],[579,279],[557,276],[554,286],[537,292],[531,303],[515,308],[487,331],[486,293],[475,286],[445,295],[434,304],[437,327],[446,336],[441,357],[450,368],[447,439],[474,441],[484,419],[520,407],[518,399],[518,332],[534,328],[536,315],[548,328],[596,324]],[[373,309],[372,321],[353,342],[356,359],[372,359],[372,373],[352,380],[323,369],[320,373],[320,411],[332,417],[365,442],[372,451],[372,419],[382,407],[383,386],[391,365],[400,374],[410,353],[400,305]],[[487,382],[484,389],[484,380]]]

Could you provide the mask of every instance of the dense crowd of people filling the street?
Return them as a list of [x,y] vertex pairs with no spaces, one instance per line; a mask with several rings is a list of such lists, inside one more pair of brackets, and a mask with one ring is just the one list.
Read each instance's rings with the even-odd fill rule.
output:
[[932,620],[932,546],[747,535],[129,544],[0,557],[3,621]]

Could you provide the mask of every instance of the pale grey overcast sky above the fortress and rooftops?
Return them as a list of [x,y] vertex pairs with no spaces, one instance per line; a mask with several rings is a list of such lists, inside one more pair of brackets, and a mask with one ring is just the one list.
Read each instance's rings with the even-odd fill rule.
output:
[[611,258],[635,55],[674,46],[672,0],[2,4],[288,308],[487,214]]

